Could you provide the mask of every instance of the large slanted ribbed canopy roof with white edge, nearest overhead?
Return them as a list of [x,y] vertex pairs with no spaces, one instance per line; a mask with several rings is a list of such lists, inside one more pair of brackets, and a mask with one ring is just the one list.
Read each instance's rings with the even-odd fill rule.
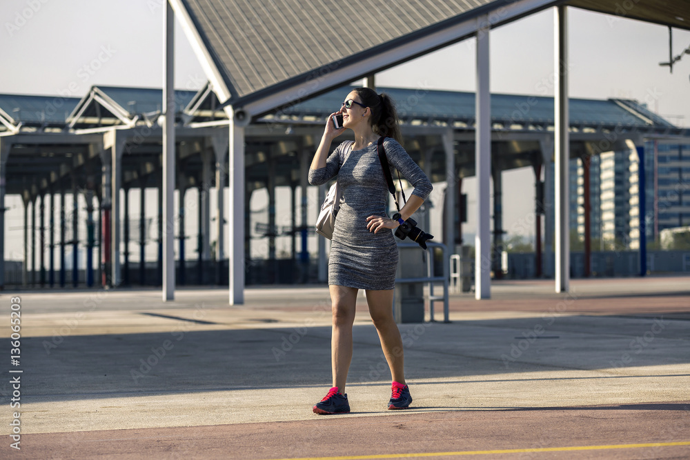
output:
[[690,29],[687,0],[171,0],[222,104],[256,117],[565,4]]

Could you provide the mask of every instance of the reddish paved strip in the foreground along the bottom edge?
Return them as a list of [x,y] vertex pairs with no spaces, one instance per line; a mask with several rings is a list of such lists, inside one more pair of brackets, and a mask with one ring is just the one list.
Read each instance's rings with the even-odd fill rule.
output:
[[[146,414],[133,412],[132,417],[146,417]],[[323,417],[309,421],[27,434],[22,437],[21,452],[12,452],[11,457],[6,439],[2,457],[257,460],[672,441],[690,441],[690,401],[506,411],[415,413],[410,410],[385,417]],[[690,458],[690,446],[480,457],[681,459]]]

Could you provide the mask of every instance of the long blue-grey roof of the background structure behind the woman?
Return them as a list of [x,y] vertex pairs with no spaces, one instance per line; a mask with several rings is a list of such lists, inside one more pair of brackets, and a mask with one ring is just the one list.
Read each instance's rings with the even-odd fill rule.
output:
[[[257,121],[284,123],[322,123],[337,110],[344,96],[353,90],[345,86],[284,108]],[[398,114],[408,126],[451,126],[473,129],[475,94],[462,91],[378,88],[391,95]],[[177,90],[178,123],[227,120],[219,101],[207,84],[198,92]],[[55,131],[70,128],[107,128],[111,126],[153,126],[161,110],[162,92],[156,88],[120,88],[93,86],[81,100],[76,98],[0,94],[0,110],[14,114],[12,126],[50,126]],[[46,110],[56,101],[63,112]],[[573,130],[612,130],[616,127],[644,132],[673,132],[676,128],[638,101],[628,99],[575,99],[569,103]],[[70,110],[67,116],[66,112]],[[0,112],[0,117],[6,117]],[[548,130],[553,126],[553,97],[520,94],[491,94],[491,121],[494,129]]]

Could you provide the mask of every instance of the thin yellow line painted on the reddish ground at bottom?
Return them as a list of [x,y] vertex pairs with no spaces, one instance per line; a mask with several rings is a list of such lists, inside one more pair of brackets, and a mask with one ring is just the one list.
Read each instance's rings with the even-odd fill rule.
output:
[[277,460],[369,460],[369,459],[412,459],[420,457],[451,457],[460,455],[487,455],[487,454],[520,454],[525,452],[569,452],[573,450],[604,450],[604,449],[638,449],[646,447],[673,447],[690,446],[690,441],[672,443],[644,443],[644,444],[613,444],[610,446],[571,446],[571,447],[546,447],[531,449],[505,449],[505,450],[464,450],[461,452],[422,452],[417,454],[377,454],[377,455],[348,455],[344,457],[300,457],[299,459]]

